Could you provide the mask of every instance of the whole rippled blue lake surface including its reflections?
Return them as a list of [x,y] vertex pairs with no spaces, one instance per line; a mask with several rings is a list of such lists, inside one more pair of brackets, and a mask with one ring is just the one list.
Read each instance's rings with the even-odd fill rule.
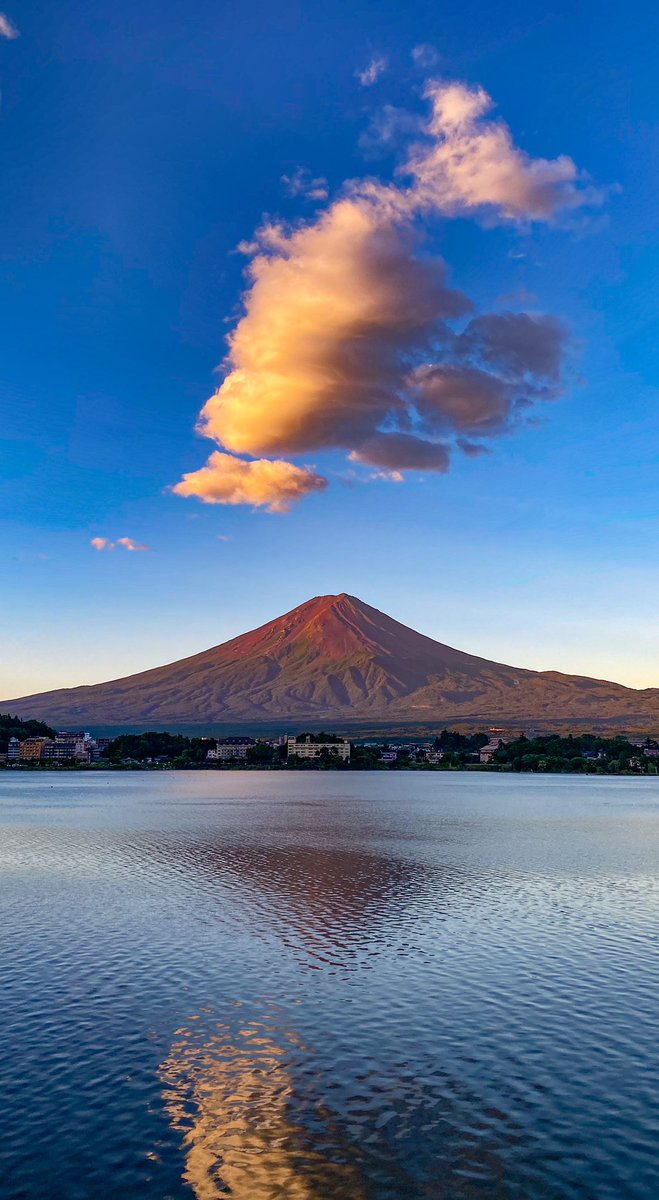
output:
[[654,1200],[659,781],[0,776],[0,1195]]

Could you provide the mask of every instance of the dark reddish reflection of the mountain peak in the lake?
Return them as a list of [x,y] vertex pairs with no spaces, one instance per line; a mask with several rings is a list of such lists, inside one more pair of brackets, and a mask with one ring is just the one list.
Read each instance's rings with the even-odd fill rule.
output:
[[274,935],[304,966],[341,974],[370,968],[382,952],[423,956],[425,922],[441,922],[457,898],[479,902],[497,884],[343,846],[149,838],[139,858],[193,878],[220,919],[228,899],[239,902],[257,936]]

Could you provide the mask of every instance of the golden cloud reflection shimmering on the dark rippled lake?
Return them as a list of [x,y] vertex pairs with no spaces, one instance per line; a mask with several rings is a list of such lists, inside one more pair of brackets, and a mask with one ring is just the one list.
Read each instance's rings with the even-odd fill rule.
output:
[[320,1104],[306,1112],[308,1102],[295,1094],[299,1055],[306,1056],[300,1040],[268,1019],[232,1031],[193,1018],[176,1031],[161,1078],[172,1124],[184,1134],[184,1178],[198,1200],[365,1195],[355,1147],[341,1146]]

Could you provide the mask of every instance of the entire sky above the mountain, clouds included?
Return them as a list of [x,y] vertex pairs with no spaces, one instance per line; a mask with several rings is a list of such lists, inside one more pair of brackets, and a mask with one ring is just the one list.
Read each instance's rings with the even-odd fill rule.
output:
[[639,0],[7,0],[1,697],[343,590],[659,686],[658,35]]

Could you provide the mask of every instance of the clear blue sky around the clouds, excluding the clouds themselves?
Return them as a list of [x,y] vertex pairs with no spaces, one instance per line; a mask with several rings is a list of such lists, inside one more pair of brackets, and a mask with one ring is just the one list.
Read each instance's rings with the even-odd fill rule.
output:
[[[499,661],[659,685],[659,13],[6,13],[20,36],[0,40],[0,695],[170,661],[341,590]],[[405,150],[365,133],[384,106],[421,116],[429,77],[485,89],[519,148],[569,156],[601,190],[567,220],[460,212],[425,229],[478,311],[569,326],[564,394],[448,473],[372,480],[346,443],[292,451],[329,486],[286,514],[174,494],[214,450],[194,425],[247,286],[238,244],[264,215],[316,220],[282,184],[296,168],[328,180],[329,203],[345,180],[395,179]],[[152,548],[91,546],[121,536]]]

